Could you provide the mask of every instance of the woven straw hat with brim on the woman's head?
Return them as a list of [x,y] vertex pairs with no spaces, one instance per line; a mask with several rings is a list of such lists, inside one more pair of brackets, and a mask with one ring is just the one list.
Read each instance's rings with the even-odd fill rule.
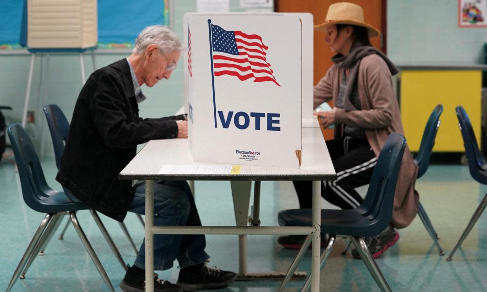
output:
[[369,30],[369,37],[380,36],[380,31],[374,26],[365,23],[362,7],[350,2],[331,4],[326,13],[325,22],[315,25],[315,30],[324,31],[332,24],[350,24],[365,27]]

